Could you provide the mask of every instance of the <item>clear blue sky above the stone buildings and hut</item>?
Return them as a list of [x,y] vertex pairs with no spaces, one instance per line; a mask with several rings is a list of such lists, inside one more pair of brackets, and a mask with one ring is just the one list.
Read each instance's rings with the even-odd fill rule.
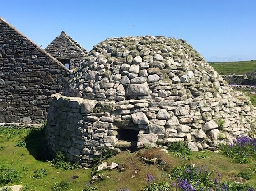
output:
[[0,17],[42,48],[65,31],[91,50],[109,37],[182,38],[208,62],[256,60],[256,0],[1,0]]

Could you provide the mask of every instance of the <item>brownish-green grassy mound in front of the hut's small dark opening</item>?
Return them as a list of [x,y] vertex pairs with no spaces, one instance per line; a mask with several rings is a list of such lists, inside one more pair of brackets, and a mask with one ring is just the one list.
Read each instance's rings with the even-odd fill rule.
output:
[[[187,159],[184,160],[182,158],[174,156],[172,153],[169,153],[169,155],[167,155],[165,152],[159,151],[158,149],[140,150],[135,153],[127,153],[123,151],[118,155],[108,159],[107,161],[109,163],[116,162],[122,167],[126,167],[126,170],[124,172],[119,172],[117,169],[111,171],[102,171],[99,174],[102,175],[103,181],[100,181],[95,185],[101,191],[103,191],[104,189],[104,191],[116,191],[119,188],[129,188],[130,191],[141,191],[142,188],[146,185],[147,173],[153,175],[158,180],[161,178],[161,173],[164,172],[164,176],[162,177],[163,179],[167,178],[167,174],[168,172],[170,172],[171,169],[177,166],[191,163],[195,164],[195,166],[198,167],[202,167],[205,165],[206,169],[213,171],[213,179],[217,177],[218,173],[221,173],[222,181],[235,181],[236,174],[243,170],[245,170],[246,172],[250,172],[251,165],[235,164],[233,160],[218,153],[205,151],[204,155],[207,155],[208,157],[206,159],[196,158],[196,155],[199,154],[200,152],[193,152],[192,155],[188,155]],[[160,160],[166,161],[168,167],[162,168],[158,164],[144,164],[143,161],[141,161],[142,156],[149,159],[157,157]],[[137,173],[135,173],[135,171],[137,171]],[[132,176],[135,174],[136,176],[132,178]],[[251,178],[246,182],[256,184],[256,174],[250,174]]]

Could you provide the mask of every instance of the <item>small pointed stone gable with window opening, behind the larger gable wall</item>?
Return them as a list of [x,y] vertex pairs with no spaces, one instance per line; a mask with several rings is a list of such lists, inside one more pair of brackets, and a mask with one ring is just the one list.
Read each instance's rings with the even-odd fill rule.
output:
[[70,70],[78,67],[81,59],[88,53],[64,31],[45,50]]

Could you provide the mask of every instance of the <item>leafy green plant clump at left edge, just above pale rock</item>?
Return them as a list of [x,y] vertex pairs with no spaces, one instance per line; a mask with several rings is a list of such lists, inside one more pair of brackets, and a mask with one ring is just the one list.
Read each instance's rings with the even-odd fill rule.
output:
[[18,182],[20,178],[21,174],[18,170],[0,164],[0,185],[6,185],[9,182]]

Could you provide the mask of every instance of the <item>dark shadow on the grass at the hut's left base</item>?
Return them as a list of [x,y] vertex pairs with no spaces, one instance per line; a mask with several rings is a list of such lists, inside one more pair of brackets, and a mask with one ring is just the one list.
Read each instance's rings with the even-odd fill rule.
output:
[[32,129],[25,138],[27,150],[36,160],[51,160],[51,154],[45,142],[45,128]]

